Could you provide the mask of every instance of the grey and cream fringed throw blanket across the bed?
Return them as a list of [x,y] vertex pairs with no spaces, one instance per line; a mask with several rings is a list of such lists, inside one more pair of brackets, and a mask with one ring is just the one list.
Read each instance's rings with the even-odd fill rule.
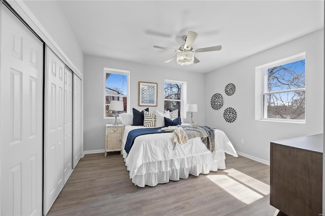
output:
[[165,131],[173,131],[174,134],[174,149],[176,143],[185,144],[191,138],[201,137],[201,141],[207,149],[214,154],[215,139],[214,129],[208,126],[192,126],[192,125],[177,125],[161,128]]

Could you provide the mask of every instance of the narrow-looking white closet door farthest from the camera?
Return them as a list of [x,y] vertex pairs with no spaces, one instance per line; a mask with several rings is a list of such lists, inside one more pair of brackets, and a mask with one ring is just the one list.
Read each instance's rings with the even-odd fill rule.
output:
[[79,77],[74,75],[73,79],[73,168],[76,167],[82,156],[82,82]]

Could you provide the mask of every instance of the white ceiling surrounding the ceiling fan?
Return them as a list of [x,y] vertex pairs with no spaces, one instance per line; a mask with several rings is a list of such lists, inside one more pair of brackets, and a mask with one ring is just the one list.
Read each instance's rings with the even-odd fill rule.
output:
[[[84,54],[206,73],[323,28],[323,1],[60,1]],[[164,63],[189,30],[198,64]]]

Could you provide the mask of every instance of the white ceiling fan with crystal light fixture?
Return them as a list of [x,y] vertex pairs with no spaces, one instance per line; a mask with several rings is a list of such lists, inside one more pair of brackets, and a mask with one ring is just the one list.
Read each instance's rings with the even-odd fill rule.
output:
[[187,35],[183,36],[183,41],[185,42],[178,50],[167,48],[167,47],[160,47],[160,46],[153,46],[154,48],[164,49],[164,50],[172,50],[177,52],[177,55],[166,60],[165,63],[169,63],[176,59],[177,63],[180,65],[190,65],[192,63],[199,63],[200,60],[194,56],[194,53],[202,53],[202,52],[210,52],[210,51],[218,51],[221,50],[222,46],[214,46],[214,47],[205,47],[199,49],[193,49],[192,45],[194,40],[196,39],[198,33],[194,31],[188,31]]

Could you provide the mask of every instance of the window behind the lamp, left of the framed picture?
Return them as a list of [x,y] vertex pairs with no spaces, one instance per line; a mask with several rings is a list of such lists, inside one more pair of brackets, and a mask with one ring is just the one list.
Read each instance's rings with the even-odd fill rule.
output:
[[104,118],[114,117],[115,114],[109,110],[112,100],[123,101],[124,111],[128,113],[129,95],[129,71],[104,68]]

